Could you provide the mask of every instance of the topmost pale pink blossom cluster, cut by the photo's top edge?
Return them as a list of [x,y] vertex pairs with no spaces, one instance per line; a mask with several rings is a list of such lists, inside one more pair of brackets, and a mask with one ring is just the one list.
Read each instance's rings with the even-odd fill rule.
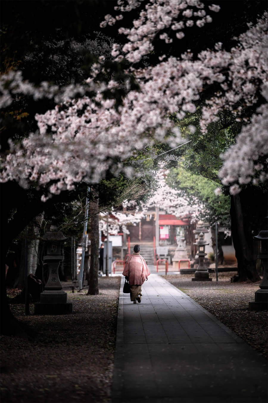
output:
[[[141,2],[127,0],[125,5],[125,2],[118,0],[117,4],[114,7],[115,10],[126,12],[139,7]],[[178,31],[176,37],[182,39],[185,36],[183,33],[185,27],[193,27],[193,25],[203,27],[206,23],[212,22],[210,15],[207,15],[208,9],[218,12],[220,7],[215,4],[207,6],[205,2],[199,0],[150,0],[146,3],[145,10],[140,12],[139,18],[133,21],[131,29],[122,27],[118,30],[129,39],[123,47],[125,57],[130,62],[139,62],[142,56],[154,50],[152,40],[163,29],[171,28],[173,31]],[[121,19],[123,19],[122,14],[115,18],[108,14],[100,26],[114,25]],[[172,38],[166,32],[161,33],[159,37],[166,43],[172,42]],[[119,54],[116,46],[112,55],[118,57],[116,60],[122,60],[122,55]]]

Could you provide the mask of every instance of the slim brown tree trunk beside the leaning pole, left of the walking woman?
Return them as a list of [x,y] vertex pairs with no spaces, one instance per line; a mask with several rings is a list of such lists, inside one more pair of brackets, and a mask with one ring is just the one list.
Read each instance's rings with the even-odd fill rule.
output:
[[87,295],[97,295],[98,272],[99,272],[99,215],[98,215],[98,194],[92,189],[94,199],[89,204],[90,219],[90,268],[89,288]]

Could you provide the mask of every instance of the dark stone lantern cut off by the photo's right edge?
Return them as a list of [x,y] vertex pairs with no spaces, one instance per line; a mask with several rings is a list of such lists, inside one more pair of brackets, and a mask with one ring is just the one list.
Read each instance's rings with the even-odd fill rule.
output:
[[249,310],[259,311],[268,309],[268,231],[260,231],[254,238],[260,239],[258,259],[262,262],[264,273],[260,289],[255,292],[255,301],[249,301]]

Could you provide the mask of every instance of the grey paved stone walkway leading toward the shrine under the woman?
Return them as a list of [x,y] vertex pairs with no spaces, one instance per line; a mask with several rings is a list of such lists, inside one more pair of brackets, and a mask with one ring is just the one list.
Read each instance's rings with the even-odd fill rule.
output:
[[161,276],[143,284],[140,304],[124,281],[112,403],[267,402],[267,361],[234,332]]

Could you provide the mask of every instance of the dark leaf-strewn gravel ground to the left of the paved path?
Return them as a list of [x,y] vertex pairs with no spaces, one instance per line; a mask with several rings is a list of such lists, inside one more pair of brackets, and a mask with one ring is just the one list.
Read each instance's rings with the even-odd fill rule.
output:
[[25,316],[23,304],[10,304],[33,336],[1,337],[2,403],[110,401],[120,277],[100,277],[94,296],[72,285],[62,283],[72,315]]

